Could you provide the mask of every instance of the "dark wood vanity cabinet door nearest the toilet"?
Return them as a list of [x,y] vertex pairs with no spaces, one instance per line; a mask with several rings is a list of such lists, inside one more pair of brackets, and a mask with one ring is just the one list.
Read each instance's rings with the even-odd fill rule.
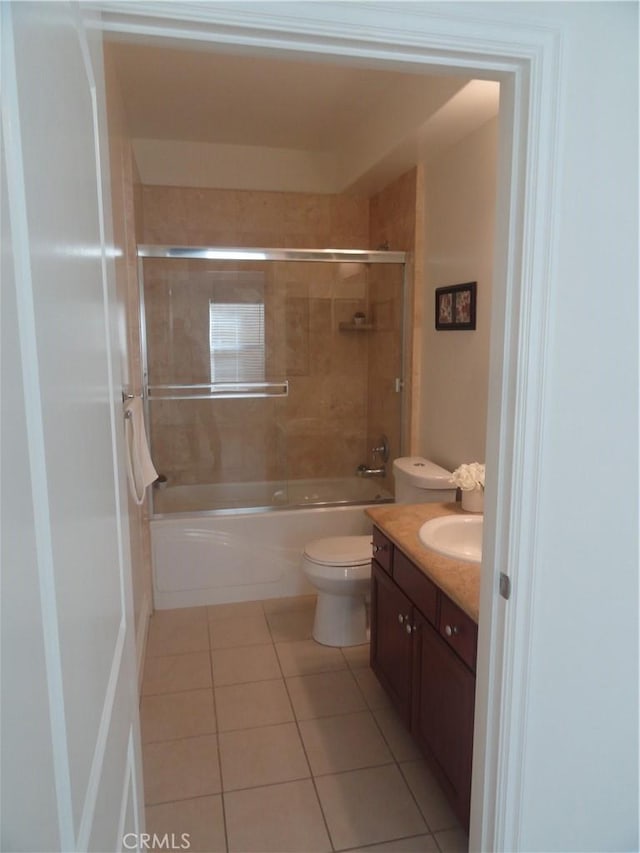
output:
[[413,640],[406,626],[411,602],[374,561],[371,564],[371,668],[407,726],[411,723]]

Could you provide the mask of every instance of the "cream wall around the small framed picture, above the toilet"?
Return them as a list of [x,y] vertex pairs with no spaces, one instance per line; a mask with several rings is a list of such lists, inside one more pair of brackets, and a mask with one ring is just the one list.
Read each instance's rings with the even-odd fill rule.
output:
[[[419,453],[453,470],[484,462],[497,119],[425,168],[426,280]],[[437,331],[437,287],[476,281],[475,331]]]

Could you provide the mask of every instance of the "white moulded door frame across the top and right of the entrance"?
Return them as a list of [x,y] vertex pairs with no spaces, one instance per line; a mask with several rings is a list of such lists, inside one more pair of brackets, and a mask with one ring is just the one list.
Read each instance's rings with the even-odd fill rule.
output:
[[[544,366],[561,110],[561,33],[500,17],[500,4],[91,4],[109,32],[251,54],[350,58],[501,83],[498,209],[470,848],[517,850],[523,721],[543,450]],[[512,581],[508,606],[500,572]]]

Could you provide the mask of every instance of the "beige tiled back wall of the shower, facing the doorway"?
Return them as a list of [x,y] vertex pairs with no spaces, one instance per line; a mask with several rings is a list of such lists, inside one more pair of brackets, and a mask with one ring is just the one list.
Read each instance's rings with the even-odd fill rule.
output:
[[[362,199],[145,187],[143,208],[147,243],[368,246],[369,204]],[[366,461],[368,341],[339,324],[367,310],[367,269],[323,263],[215,269],[263,272],[268,378],[288,379],[289,396],[152,403],[157,467],[175,483],[351,476]],[[212,292],[194,285],[213,270],[206,262],[145,261],[150,384],[172,377],[209,382]],[[180,287],[186,292],[189,280],[192,295],[182,299]]]

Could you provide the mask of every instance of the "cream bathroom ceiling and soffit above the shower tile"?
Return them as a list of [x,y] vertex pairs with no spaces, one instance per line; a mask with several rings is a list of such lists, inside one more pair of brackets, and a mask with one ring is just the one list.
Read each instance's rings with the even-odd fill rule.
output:
[[[224,156],[214,159],[224,160],[227,172],[234,171],[233,155],[238,173],[251,173],[254,181],[256,164],[250,160],[259,156],[265,180],[277,183],[279,171],[292,179],[295,170],[285,164],[297,157],[295,180],[304,184],[299,168],[304,156],[306,171],[326,191],[371,192],[390,172],[401,174],[418,159],[429,159],[498,109],[497,83],[474,81],[472,97],[470,81],[461,77],[234,55],[202,45],[114,41],[107,50],[129,131],[139,141],[134,150],[143,182],[224,182],[211,170],[198,177],[193,167],[194,151],[207,159],[203,146],[217,146]],[[278,168],[270,170],[276,151]],[[171,158],[190,159],[189,174],[181,178],[174,163],[163,179],[160,164]],[[376,178],[378,172],[384,178]]]

